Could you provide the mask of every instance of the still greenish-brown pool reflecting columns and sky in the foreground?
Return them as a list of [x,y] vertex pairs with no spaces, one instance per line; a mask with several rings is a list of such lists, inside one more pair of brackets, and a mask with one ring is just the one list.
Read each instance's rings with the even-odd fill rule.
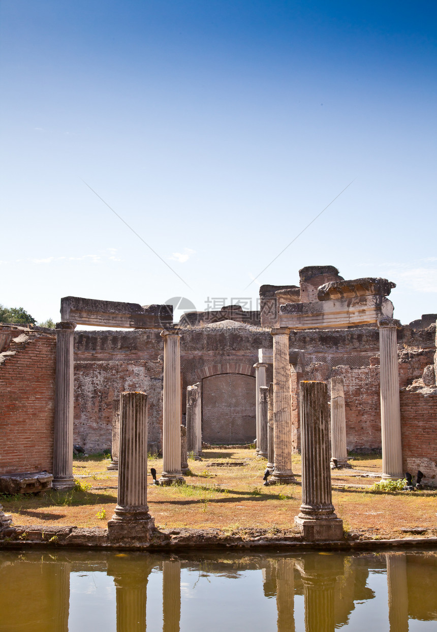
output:
[[437,631],[437,553],[0,551],[1,632]]

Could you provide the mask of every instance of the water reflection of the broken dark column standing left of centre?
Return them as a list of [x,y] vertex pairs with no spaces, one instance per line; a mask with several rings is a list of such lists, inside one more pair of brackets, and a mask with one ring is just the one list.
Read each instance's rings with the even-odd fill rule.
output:
[[116,585],[117,632],[145,632],[147,581],[153,562],[148,558],[108,562],[107,574]]

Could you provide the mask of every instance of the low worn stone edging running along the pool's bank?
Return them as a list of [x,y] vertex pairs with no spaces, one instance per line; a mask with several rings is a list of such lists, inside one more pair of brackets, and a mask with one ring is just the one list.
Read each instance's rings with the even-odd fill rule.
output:
[[[267,531],[267,530],[265,530]],[[328,542],[305,542],[298,535],[227,535],[214,529],[173,529],[156,531],[148,542],[109,540],[107,529],[76,526],[16,526],[0,532],[0,550],[6,549],[105,549],[105,550],[376,550],[399,548],[437,549],[437,537],[392,539],[344,539]]]

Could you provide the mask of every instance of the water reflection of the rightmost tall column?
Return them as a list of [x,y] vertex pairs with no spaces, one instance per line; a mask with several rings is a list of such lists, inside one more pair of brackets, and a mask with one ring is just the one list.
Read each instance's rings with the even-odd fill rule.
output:
[[390,632],[408,632],[407,556],[387,553],[388,621]]

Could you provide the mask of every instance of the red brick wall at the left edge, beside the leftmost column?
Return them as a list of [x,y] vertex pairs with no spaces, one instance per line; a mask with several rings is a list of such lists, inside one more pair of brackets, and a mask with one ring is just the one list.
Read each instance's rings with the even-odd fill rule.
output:
[[52,471],[56,334],[0,329],[27,336],[0,365],[0,473]]

